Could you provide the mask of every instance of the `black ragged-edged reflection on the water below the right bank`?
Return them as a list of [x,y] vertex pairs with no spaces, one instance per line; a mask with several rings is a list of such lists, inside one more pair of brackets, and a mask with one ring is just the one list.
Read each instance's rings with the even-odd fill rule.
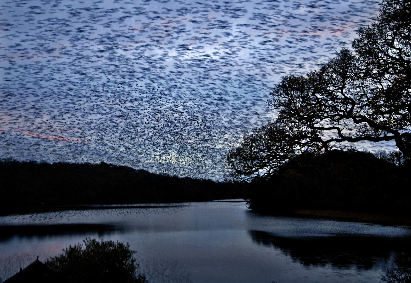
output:
[[339,269],[372,269],[381,259],[390,262],[393,253],[410,246],[409,237],[388,238],[370,235],[329,237],[279,237],[264,231],[250,230],[252,241],[282,251],[304,266],[331,264]]

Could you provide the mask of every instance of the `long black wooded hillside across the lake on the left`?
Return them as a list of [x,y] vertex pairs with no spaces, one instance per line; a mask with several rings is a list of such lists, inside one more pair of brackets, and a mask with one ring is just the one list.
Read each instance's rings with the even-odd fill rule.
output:
[[242,197],[230,183],[152,174],[104,162],[92,164],[0,162],[1,210],[85,204],[196,202]]

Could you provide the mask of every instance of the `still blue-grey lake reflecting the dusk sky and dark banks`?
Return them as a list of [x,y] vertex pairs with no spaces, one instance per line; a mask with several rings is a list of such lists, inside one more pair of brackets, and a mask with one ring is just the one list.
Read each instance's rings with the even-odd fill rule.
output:
[[0,278],[85,237],[129,242],[150,283],[380,282],[409,226],[266,216],[245,202],[0,217]]

